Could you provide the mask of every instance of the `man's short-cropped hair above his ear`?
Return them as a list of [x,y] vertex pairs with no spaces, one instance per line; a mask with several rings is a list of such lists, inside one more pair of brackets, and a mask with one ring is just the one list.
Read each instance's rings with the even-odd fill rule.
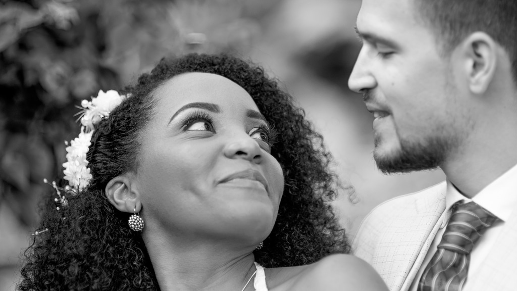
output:
[[517,0],[414,0],[448,55],[469,34],[489,34],[510,57],[517,83]]

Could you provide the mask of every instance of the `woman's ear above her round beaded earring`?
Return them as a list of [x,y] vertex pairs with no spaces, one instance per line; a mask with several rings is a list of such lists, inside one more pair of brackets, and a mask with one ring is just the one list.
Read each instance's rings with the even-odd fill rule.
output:
[[123,174],[111,179],[105,188],[106,197],[121,212],[140,212],[142,209],[140,194],[134,186],[132,187],[132,179],[129,176],[130,174]]

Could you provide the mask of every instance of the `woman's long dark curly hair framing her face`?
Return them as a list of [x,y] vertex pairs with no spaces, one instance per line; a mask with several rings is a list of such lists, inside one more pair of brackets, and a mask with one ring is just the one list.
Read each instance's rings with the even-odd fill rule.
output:
[[[104,188],[114,177],[136,169],[140,133],[154,114],[153,92],[186,72],[221,75],[244,88],[278,132],[271,149],[284,173],[284,193],[276,224],[255,251],[265,267],[313,263],[331,253],[348,253],[349,244],[329,201],[336,197],[336,176],[323,138],[264,70],[230,55],[189,54],[162,59],[136,84],[109,118],[96,125],[89,147],[93,178],[80,195],[56,211],[48,199],[42,228],[25,252],[20,290],[158,290],[140,232],[127,226],[129,213],[116,210]],[[55,195],[55,193],[54,193]]]

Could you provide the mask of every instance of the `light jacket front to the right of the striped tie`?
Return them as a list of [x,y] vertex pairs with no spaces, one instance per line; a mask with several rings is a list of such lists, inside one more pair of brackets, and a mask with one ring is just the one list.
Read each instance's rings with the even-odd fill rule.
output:
[[[476,275],[467,279],[473,290],[511,291],[517,286],[517,210],[505,222],[496,243]],[[470,284],[472,283],[472,284]]]

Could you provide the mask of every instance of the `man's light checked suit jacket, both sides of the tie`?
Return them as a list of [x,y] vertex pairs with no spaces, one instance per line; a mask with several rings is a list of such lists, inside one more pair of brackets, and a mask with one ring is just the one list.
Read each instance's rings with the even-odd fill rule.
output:
[[[517,192],[515,193],[517,195]],[[381,274],[390,291],[407,291],[445,217],[446,182],[390,199],[373,209],[352,242],[353,253]],[[517,209],[505,222],[472,289],[517,290]]]

